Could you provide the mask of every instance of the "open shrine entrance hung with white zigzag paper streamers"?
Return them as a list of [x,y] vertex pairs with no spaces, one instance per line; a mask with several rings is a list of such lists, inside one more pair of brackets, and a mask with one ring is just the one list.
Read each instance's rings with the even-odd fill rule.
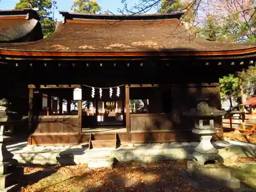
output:
[[120,95],[119,87],[103,89],[84,86],[82,95],[82,132],[125,129],[125,98],[124,94]]

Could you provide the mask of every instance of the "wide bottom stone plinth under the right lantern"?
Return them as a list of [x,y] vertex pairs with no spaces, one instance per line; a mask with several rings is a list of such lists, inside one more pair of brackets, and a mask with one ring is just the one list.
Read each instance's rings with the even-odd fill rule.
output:
[[190,182],[196,189],[202,188],[231,188],[240,189],[241,182],[232,177],[228,167],[222,165],[199,166],[196,162],[188,161],[187,170],[179,174]]

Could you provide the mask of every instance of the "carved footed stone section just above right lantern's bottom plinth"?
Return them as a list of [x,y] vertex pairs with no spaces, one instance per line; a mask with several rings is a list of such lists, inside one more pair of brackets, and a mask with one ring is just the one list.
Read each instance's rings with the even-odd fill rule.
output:
[[192,156],[193,161],[200,166],[204,166],[207,162],[216,165],[223,165],[224,163],[224,159],[219,154],[200,154],[198,152],[194,152]]

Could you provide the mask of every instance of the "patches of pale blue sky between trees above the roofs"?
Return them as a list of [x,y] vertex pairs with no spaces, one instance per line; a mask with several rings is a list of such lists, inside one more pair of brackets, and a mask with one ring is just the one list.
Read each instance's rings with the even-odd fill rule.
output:
[[[97,0],[97,3],[101,6],[102,10],[109,10],[114,14],[118,13],[118,8],[122,9],[123,4],[122,0]],[[0,0],[0,9],[13,9],[18,0]],[[126,0],[129,4],[129,7],[132,7],[138,2],[137,0]],[[70,6],[72,5],[73,0],[57,0],[58,10],[59,11],[70,11]],[[58,13],[58,10],[55,10],[55,18],[62,20],[61,15]],[[156,9],[152,9],[147,12],[147,14],[156,13]]]

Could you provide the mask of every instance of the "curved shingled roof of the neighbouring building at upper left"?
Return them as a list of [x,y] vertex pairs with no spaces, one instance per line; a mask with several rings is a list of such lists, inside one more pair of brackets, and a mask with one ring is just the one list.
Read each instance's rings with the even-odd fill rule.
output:
[[0,11],[0,42],[28,42],[42,39],[39,16],[32,9]]

